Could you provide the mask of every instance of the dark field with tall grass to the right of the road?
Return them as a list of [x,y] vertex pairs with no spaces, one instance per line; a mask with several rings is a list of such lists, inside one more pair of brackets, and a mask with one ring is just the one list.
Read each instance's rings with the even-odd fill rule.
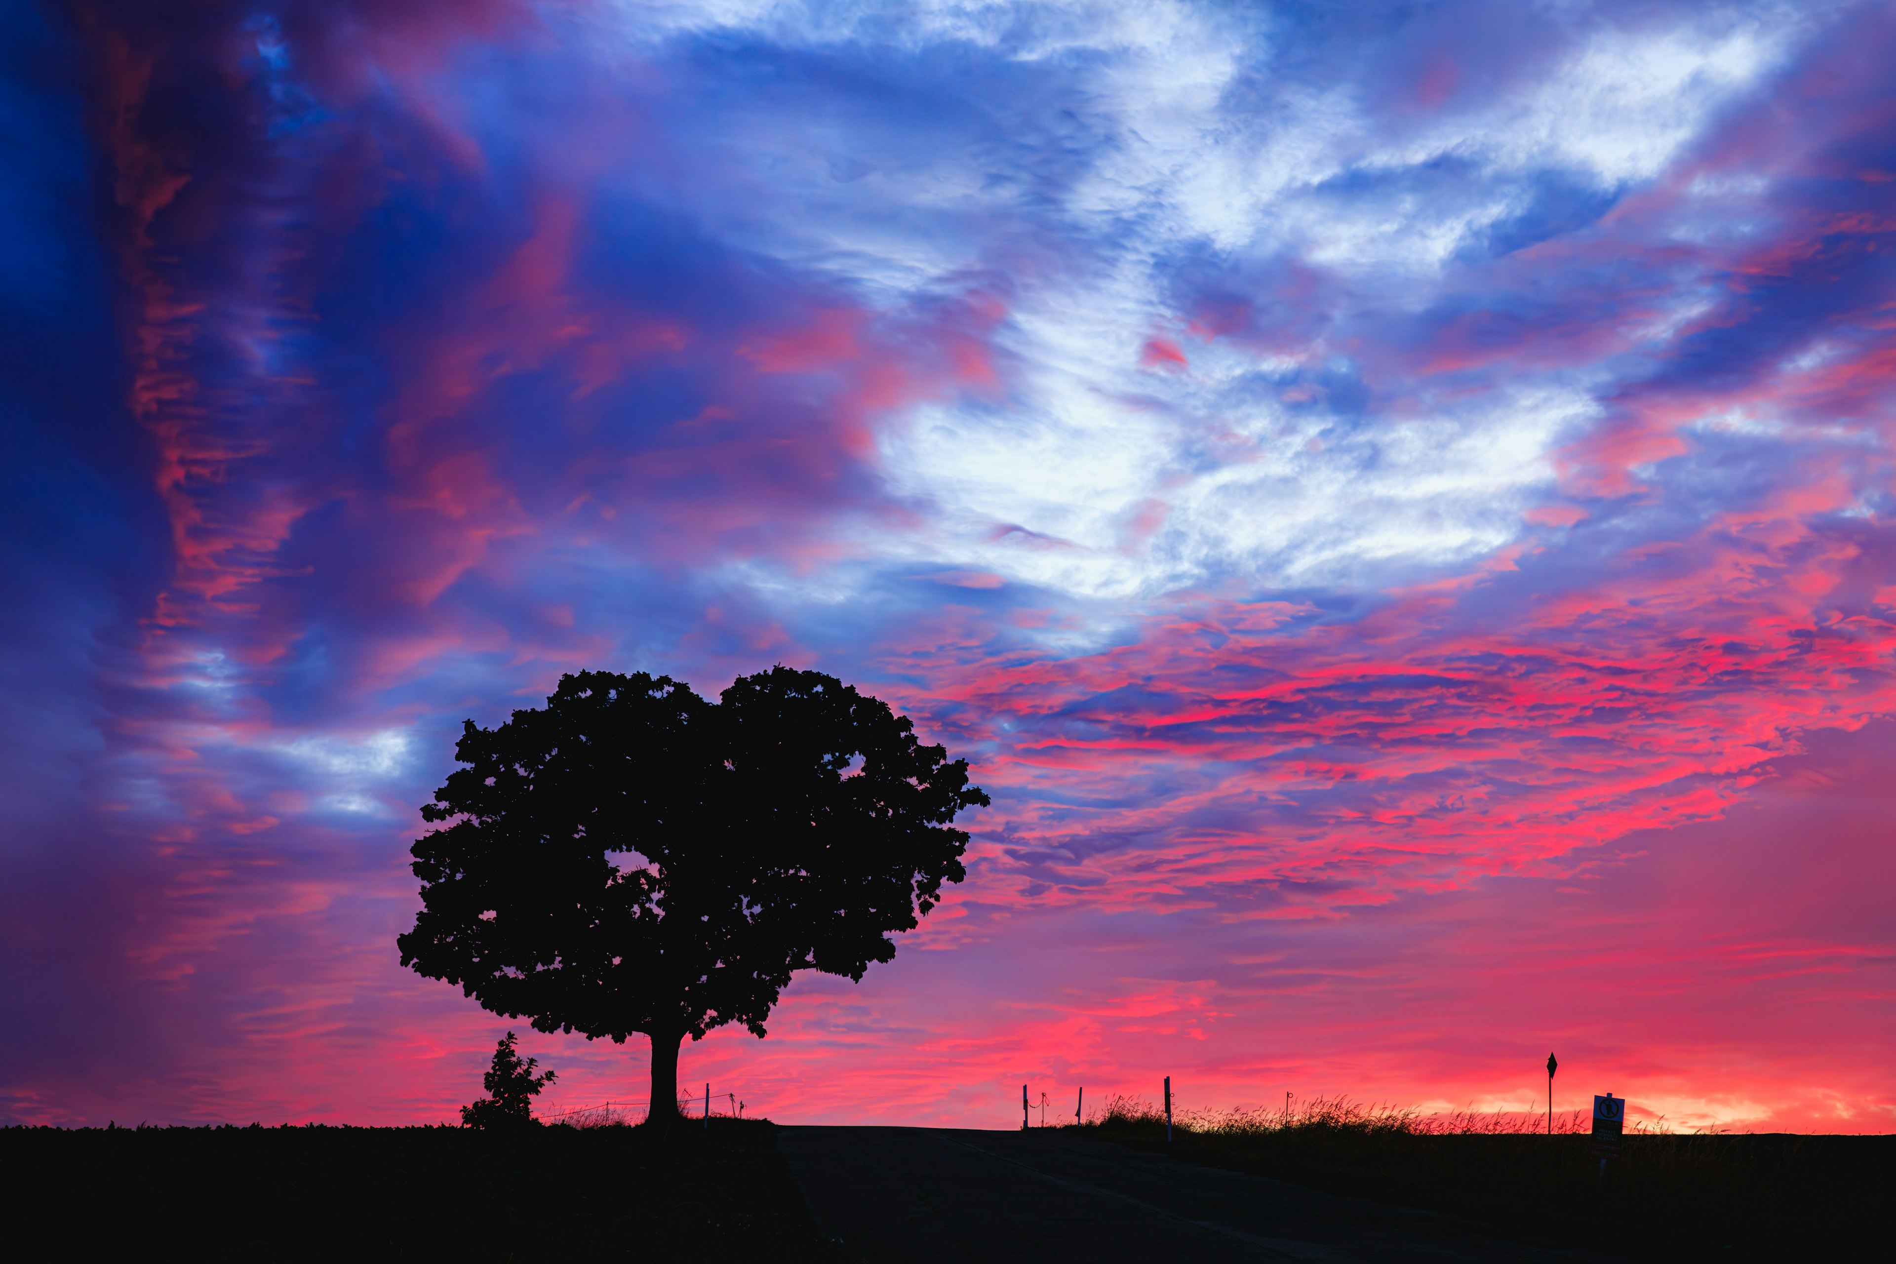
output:
[[1847,1247],[1883,1234],[1883,1198],[1896,1177],[1896,1137],[1646,1128],[1625,1137],[1602,1179],[1577,1112],[1557,1116],[1549,1137],[1528,1116],[1424,1116],[1320,1099],[1181,1114],[1168,1147],[1164,1112],[1115,1099],[1079,1128],[1191,1164],[1636,1260],[1850,1258]]

